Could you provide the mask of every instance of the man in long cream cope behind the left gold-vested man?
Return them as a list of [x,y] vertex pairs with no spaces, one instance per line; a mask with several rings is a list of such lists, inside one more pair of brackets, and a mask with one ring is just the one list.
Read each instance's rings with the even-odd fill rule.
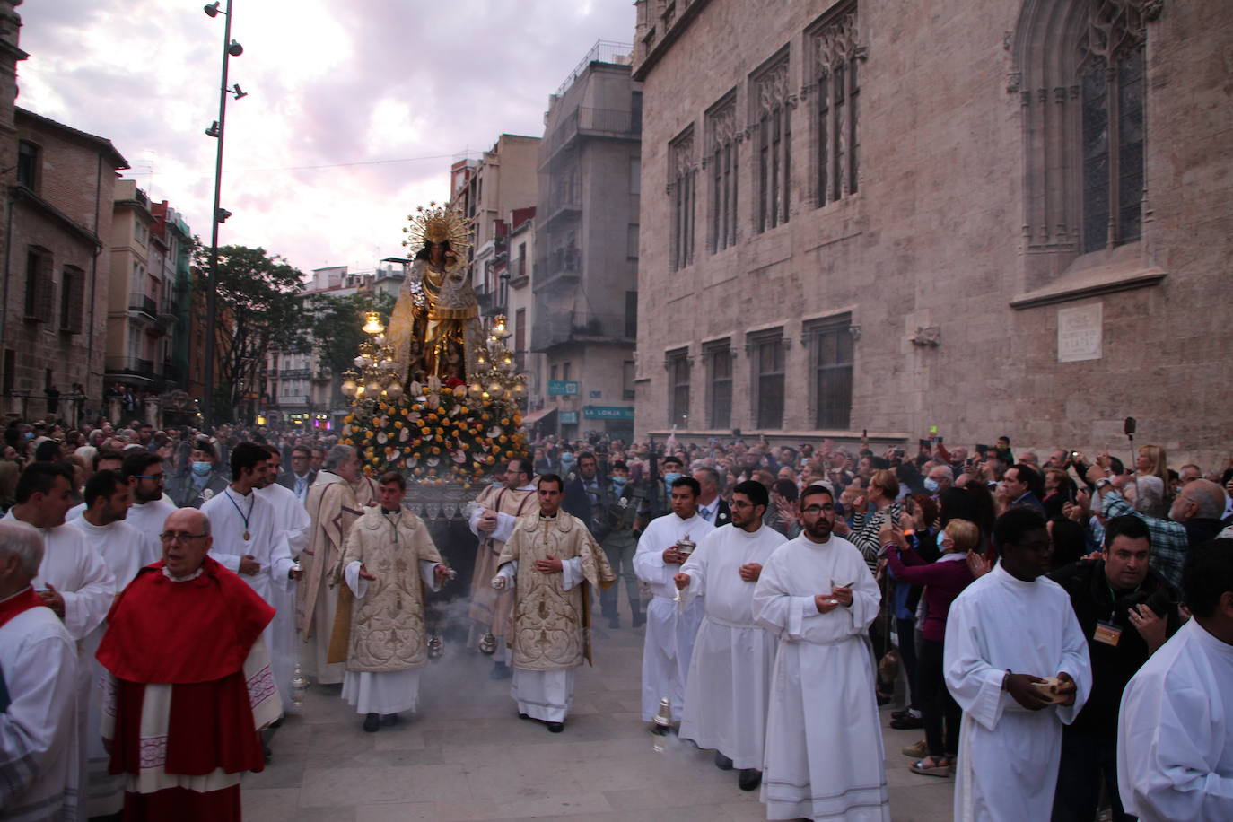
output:
[[343,682],[345,637],[340,653],[330,654],[330,638],[339,600],[350,609],[351,592],[338,585],[339,562],[351,525],[366,508],[377,504],[377,486],[360,470],[360,457],[350,445],[335,445],[326,455],[317,479],[308,489],[305,510],[312,519],[308,547],[300,555],[303,582],[296,585],[296,630],[303,649],[305,673],[318,684]]

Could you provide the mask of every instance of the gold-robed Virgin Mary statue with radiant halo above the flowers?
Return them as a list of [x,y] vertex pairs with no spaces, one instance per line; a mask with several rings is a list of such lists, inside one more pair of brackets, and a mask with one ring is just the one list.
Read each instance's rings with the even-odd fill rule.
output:
[[403,245],[414,261],[390,315],[386,344],[404,385],[432,376],[445,386],[465,385],[483,344],[466,269],[470,226],[450,203],[420,206],[408,219]]

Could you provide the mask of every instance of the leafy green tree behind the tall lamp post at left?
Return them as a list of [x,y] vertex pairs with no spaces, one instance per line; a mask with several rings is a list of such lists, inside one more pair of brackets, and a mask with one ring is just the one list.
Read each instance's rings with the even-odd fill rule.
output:
[[[202,256],[206,254],[203,249]],[[208,270],[208,259],[199,265]],[[217,288],[215,408],[218,421],[232,421],[240,418],[245,394],[260,393],[265,355],[271,349],[306,349],[309,318],[300,306],[303,274],[261,248],[219,248]]]

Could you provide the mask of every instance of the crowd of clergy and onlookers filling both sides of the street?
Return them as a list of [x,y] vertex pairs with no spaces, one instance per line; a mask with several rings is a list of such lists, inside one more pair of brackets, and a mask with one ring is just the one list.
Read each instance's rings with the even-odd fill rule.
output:
[[[642,720],[772,820],[890,818],[884,717],[956,818],[1233,818],[1233,468],[914,451],[538,437],[467,511],[469,646],[561,733],[592,608],[628,612]],[[360,456],[7,425],[0,818],[239,818],[297,653],[366,732],[417,710],[459,546]]]

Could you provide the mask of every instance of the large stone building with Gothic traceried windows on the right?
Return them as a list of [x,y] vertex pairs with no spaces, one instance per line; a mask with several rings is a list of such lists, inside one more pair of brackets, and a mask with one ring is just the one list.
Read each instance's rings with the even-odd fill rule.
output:
[[636,5],[640,437],[1223,467],[1223,4]]

